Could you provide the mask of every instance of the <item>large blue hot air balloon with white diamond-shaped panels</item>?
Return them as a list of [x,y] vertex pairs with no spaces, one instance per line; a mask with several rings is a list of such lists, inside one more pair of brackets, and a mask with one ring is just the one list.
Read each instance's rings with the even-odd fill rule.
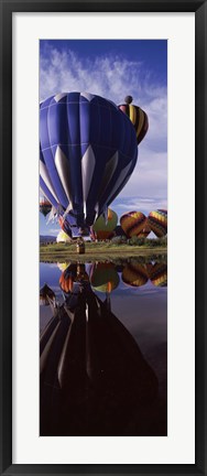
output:
[[40,106],[40,142],[41,190],[65,229],[89,230],[135,166],[132,122],[100,96],[58,94]]

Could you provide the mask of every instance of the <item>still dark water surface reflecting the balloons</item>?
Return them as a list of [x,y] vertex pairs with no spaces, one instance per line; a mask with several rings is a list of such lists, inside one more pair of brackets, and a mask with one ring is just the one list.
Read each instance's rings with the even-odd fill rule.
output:
[[[81,295],[80,307],[87,309],[84,316],[87,321],[90,309],[94,309],[94,323],[87,334],[88,323],[87,326],[80,324],[81,310],[76,312],[78,316],[73,321],[74,309],[77,311],[74,301],[69,320],[75,322],[70,325],[75,331],[74,334],[70,332],[69,350],[64,350],[70,353],[64,357],[67,361],[65,380],[63,376],[58,377],[63,370],[58,360],[61,354],[58,366],[57,360],[53,363],[52,377],[52,367],[47,370],[48,377],[44,377],[44,371],[41,376],[41,389],[44,390],[43,397],[41,394],[41,434],[166,435],[166,263],[139,263],[134,260],[121,261],[121,264],[96,261],[84,266],[41,262],[40,286],[44,283],[54,291],[59,305],[72,302],[73,293]],[[86,292],[80,290],[80,294],[79,283],[81,289],[85,289],[85,284],[87,288]],[[41,334],[52,316],[50,305],[40,306]],[[110,316],[116,316],[112,327]],[[119,323],[124,327],[120,327]],[[80,356],[81,342],[84,357]],[[64,345],[63,339],[63,348]],[[48,356],[54,360],[56,350],[48,342],[46,353],[46,361]],[[59,397],[63,389],[64,399]]]

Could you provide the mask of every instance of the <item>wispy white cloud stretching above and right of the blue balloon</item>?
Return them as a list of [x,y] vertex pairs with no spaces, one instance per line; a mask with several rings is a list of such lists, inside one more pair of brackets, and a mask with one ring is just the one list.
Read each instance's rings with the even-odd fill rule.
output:
[[[160,199],[167,195],[167,91],[139,61],[120,55],[80,57],[72,48],[57,50],[47,42],[41,56],[40,99],[68,90],[87,90],[121,104],[133,96],[149,116],[150,128],[139,147],[138,164],[121,197]],[[149,198],[150,199],[150,198]],[[144,202],[145,207],[148,202]],[[149,205],[150,206],[150,205]],[[54,231],[54,230],[53,230]]]

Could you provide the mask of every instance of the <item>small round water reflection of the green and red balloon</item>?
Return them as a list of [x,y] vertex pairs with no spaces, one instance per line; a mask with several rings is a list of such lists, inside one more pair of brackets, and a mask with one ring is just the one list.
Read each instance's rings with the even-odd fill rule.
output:
[[99,292],[110,293],[119,285],[119,274],[111,262],[98,262],[90,272],[91,286]]

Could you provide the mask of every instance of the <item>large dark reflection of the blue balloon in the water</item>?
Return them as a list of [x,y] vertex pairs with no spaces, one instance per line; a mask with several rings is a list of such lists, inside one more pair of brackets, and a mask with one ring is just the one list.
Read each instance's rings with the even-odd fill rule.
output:
[[83,275],[41,335],[40,434],[148,434],[156,376]]

